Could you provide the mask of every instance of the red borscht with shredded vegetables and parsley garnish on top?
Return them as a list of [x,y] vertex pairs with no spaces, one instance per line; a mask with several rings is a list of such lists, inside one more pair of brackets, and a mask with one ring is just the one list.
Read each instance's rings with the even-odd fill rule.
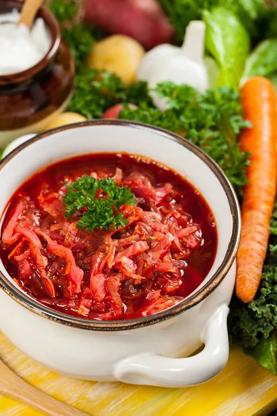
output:
[[125,153],[67,159],[12,196],[0,257],[38,302],[90,320],[163,311],[202,283],[215,258],[211,209],[184,177]]

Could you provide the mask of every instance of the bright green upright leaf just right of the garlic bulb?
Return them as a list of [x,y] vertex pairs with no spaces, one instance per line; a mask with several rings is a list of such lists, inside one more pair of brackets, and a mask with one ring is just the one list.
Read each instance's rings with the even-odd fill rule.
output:
[[250,51],[250,37],[240,19],[223,7],[204,10],[206,49],[220,67],[218,85],[238,89]]

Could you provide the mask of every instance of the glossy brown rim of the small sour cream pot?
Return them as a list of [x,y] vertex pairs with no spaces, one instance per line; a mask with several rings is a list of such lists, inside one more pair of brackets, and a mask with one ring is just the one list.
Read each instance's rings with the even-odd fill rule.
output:
[[[2,3],[5,0],[0,0]],[[9,1],[7,1],[9,3]],[[10,3],[14,3],[17,10],[21,10],[23,3],[21,0],[12,0]],[[60,42],[61,42],[61,34],[60,34],[60,26],[57,23],[57,19],[54,17],[53,13],[51,13],[48,8],[45,6],[41,6],[37,11],[37,17],[41,17],[48,28],[49,34],[51,36],[51,45],[48,49],[48,52],[42,57],[37,64],[33,65],[33,67],[24,69],[23,71],[8,73],[6,75],[0,76],[0,85],[8,85],[13,83],[21,83],[22,81],[28,80],[35,76],[39,71],[42,71],[46,67],[46,65],[51,62],[53,57],[56,55],[57,50],[59,49]]]

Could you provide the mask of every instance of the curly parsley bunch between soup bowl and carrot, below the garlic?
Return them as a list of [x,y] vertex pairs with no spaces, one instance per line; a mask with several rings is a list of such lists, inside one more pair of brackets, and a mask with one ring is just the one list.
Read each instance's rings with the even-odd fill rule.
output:
[[249,164],[249,155],[240,151],[236,139],[249,123],[242,117],[240,95],[229,87],[202,95],[188,85],[170,82],[159,84],[154,91],[168,98],[168,110],[160,111],[145,102],[138,109],[126,105],[120,119],[141,121],[184,135],[215,159],[238,196],[242,196],[242,187],[247,183],[244,167]]

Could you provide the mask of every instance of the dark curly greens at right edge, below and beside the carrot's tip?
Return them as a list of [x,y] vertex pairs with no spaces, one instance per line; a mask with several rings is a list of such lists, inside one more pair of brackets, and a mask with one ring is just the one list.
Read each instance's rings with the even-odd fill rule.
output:
[[231,302],[229,335],[261,365],[277,374],[277,200],[271,217],[271,238],[255,299]]

